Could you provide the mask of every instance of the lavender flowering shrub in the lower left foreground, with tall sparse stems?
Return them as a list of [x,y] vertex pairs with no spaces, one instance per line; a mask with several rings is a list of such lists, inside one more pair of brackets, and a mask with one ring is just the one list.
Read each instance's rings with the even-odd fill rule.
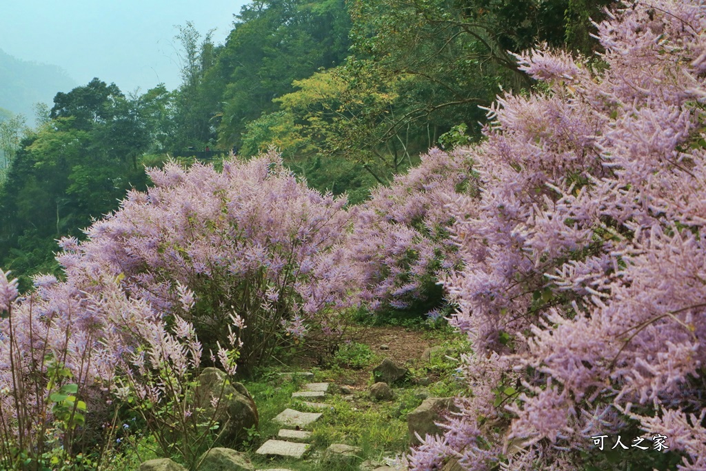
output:
[[[100,269],[67,275],[65,282],[37,277],[35,292],[16,299],[16,280],[0,272],[0,467],[100,468],[116,443],[120,405],[136,410],[164,455],[193,463],[217,438],[218,425],[193,410],[202,355],[193,326],[179,316],[168,326],[160,311],[126,296],[120,278]],[[231,313],[223,328],[227,343],[218,345],[213,363],[234,374],[242,345],[234,329],[246,326]],[[86,451],[91,460],[82,458]]]

